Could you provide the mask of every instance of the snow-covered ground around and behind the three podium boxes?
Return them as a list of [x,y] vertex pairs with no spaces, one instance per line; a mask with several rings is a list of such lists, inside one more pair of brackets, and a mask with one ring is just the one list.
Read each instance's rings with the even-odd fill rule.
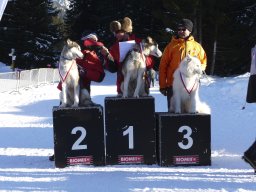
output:
[[[92,85],[93,101],[116,94],[115,76]],[[245,104],[249,74],[202,80],[201,100],[211,106],[212,165],[73,166],[55,168],[52,107],[58,105],[56,85],[0,93],[0,192],[2,191],[256,191],[256,176],[241,160],[256,134],[255,104]],[[166,98],[151,88],[157,112]]]

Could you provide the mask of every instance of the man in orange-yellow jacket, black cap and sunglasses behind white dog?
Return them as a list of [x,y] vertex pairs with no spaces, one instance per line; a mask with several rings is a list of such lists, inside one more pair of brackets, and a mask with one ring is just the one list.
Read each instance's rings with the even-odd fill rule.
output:
[[159,87],[160,92],[167,96],[168,110],[170,108],[170,99],[172,97],[173,73],[178,68],[180,61],[191,55],[197,57],[205,70],[207,57],[202,46],[195,41],[191,35],[193,23],[189,19],[182,19],[178,23],[177,36],[173,36],[171,42],[165,47],[159,65]]

